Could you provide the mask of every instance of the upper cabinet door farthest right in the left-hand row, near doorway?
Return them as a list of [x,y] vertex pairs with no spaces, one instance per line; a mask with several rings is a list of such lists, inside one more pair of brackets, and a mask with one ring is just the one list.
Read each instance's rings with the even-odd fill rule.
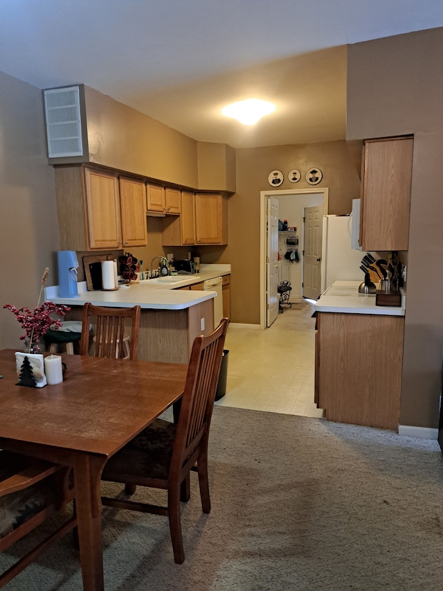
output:
[[221,244],[223,230],[221,195],[195,195],[195,230],[197,244]]

